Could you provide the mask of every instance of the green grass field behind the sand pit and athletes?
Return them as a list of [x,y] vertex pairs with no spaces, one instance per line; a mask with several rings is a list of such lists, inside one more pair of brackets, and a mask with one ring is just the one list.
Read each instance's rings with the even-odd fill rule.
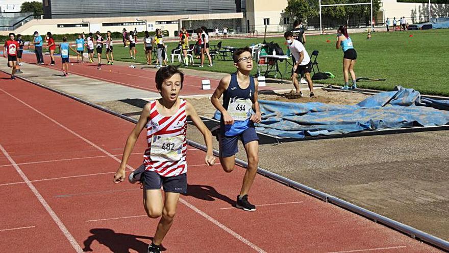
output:
[[[359,87],[391,90],[396,85],[414,88],[423,94],[449,95],[449,29],[407,31],[407,32],[381,32],[373,33],[371,39],[366,39],[366,33],[350,34],[357,50],[357,63],[355,72],[357,77],[386,78],[387,81],[360,81]],[[410,37],[413,35],[413,37]],[[262,42],[263,39],[227,39],[222,45],[244,47]],[[327,42],[330,40],[330,42]],[[335,49],[335,35],[308,36],[306,50],[309,54],[313,50],[319,51],[318,63],[321,72],[331,72],[335,79],[321,80],[320,83],[343,84],[342,59],[343,52]],[[216,44],[220,40],[210,41]],[[282,37],[267,38],[267,41],[279,43],[284,52],[287,52],[285,40]],[[193,42],[191,42],[193,43]],[[168,43],[168,52],[177,43]],[[138,44],[137,59],[129,59],[128,48],[119,44],[114,46],[114,56],[117,61],[135,61],[145,63],[143,45]],[[171,59],[170,54],[167,54]],[[156,60],[156,59],[153,59]],[[195,59],[198,63],[199,59]],[[235,67],[232,61],[215,59],[214,66],[204,68],[189,66],[196,70],[232,73]],[[175,62],[174,64],[179,65]],[[284,71],[284,63],[280,63]],[[256,69],[256,67],[255,67]],[[254,70],[254,74],[256,71]],[[289,71],[287,71],[289,73]],[[289,75],[289,74],[287,74]],[[279,77],[279,76],[278,76]]]

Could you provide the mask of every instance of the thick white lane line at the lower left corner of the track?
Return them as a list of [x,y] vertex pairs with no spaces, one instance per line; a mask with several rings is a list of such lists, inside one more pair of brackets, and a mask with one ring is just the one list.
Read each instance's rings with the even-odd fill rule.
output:
[[73,238],[72,234],[68,231],[67,227],[62,223],[61,219],[59,219],[58,215],[56,215],[55,211],[48,205],[47,201],[42,197],[42,195],[39,193],[39,191],[33,186],[33,183],[30,182],[28,177],[23,173],[23,171],[20,169],[20,167],[14,162],[13,158],[8,154],[8,152],[3,148],[3,146],[0,144],[0,150],[2,150],[3,154],[8,158],[9,162],[14,166],[17,173],[19,173],[20,177],[22,177],[23,181],[25,181],[28,185],[28,187],[31,189],[31,191],[34,193],[36,198],[39,200],[39,202],[43,205],[47,213],[52,217],[52,219],[55,221],[55,223],[58,225],[59,229],[61,229],[61,232],[64,234],[64,236],[67,238],[67,240],[70,242],[72,247],[77,252],[83,252],[83,249],[78,244],[77,240]]

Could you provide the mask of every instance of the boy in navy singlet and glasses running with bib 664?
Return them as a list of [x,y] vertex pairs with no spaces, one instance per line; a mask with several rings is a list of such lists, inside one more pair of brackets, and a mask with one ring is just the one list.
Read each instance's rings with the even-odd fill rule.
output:
[[[236,207],[245,211],[256,211],[256,206],[248,201],[248,192],[256,177],[259,163],[259,138],[254,123],[259,123],[261,114],[257,101],[258,82],[250,76],[253,70],[251,49],[241,48],[232,55],[237,72],[223,77],[211,97],[211,102],[221,112],[219,149],[223,170],[234,170],[237,142],[240,138],[248,158],[248,168],[243,177]],[[223,95],[223,104],[220,97]],[[255,113],[252,113],[252,109]]]

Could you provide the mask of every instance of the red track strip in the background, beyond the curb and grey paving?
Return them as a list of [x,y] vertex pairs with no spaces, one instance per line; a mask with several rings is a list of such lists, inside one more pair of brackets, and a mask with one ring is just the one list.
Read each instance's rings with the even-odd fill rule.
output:
[[[34,54],[23,54],[23,61],[28,63],[35,63],[36,57]],[[45,62],[50,61],[49,55],[44,55]],[[97,65],[95,63],[85,62],[85,63],[76,63],[73,60],[73,57],[70,58],[73,65],[69,65],[68,72],[71,74],[76,74],[84,77],[89,77],[97,80],[112,82],[116,84],[126,85],[134,88],[144,89],[148,91],[153,91],[158,93],[156,89],[155,76],[156,69],[153,67],[144,67],[143,69],[138,68],[130,68],[126,65],[116,64],[116,65],[102,65],[101,70],[97,69]],[[53,68],[54,70],[61,70],[61,57],[55,57],[56,65],[43,65],[45,67]],[[104,63],[106,60],[104,60]],[[129,63],[132,64],[132,63]],[[229,63],[231,64],[231,63]],[[140,66],[140,65],[138,65]],[[142,65],[144,66],[144,65]],[[211,83],[210,90],[201,89],[201,81],[203,79],[209,79]],[[197,77],[191,75],[185,75],[184,85],[182,89],[182,95],[211,95],[215,88],[218,86],[218,82],[220,80],[211,76],[209,78]],[[260,89],[268,89],[273,90],[275,88],[271,87],[261,87]]]

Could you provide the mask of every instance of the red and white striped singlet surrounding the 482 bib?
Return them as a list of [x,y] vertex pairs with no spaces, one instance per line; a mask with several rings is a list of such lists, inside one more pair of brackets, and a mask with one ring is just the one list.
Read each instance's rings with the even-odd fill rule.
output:
[[[156,109],[156,100],[151,102],[151,110],[149,120],[146,124],[147,134],[146,141],[148,147],[143,155],[143,163],[145,170],[156,171],[159,175],[164,177],[177,176],[187,172],[186,152],[187,152],[187,115],[186,115],[186,101],[180,99],[179,109],[172,116],[162,116]],[[157,161],[151,159],[151,144],[153,136],[173,137],[183,136],[183,143],[181,148],[181,159],[171,161]]]

